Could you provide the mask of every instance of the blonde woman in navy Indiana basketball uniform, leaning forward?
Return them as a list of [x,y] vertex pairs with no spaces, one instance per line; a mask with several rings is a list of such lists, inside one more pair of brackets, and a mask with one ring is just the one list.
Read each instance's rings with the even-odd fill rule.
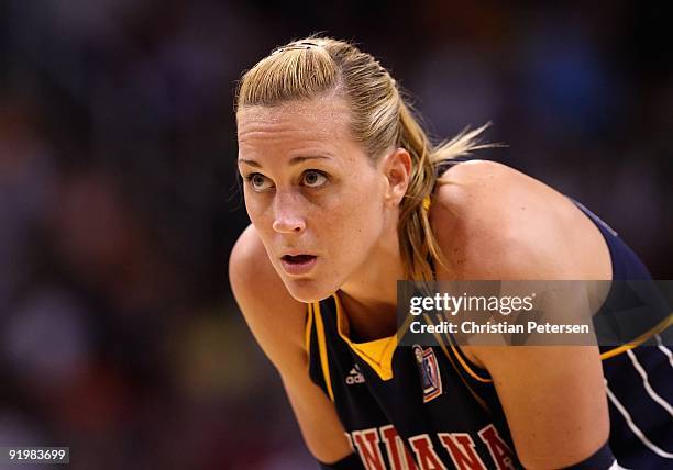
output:
[[[398,279],[647,278],[593,214],[504,165],[457,164],[482,130],[433,147],[387,70],[344,42],[262,59],[236,122],[252,225],[230,279],[322,468],[673,463],[671,381],[631,426],[608,411],[597,347],[424,348],[443,384],[427,400],[419,351],[397,346]],[[668,366],[663,349],[629,351]]]

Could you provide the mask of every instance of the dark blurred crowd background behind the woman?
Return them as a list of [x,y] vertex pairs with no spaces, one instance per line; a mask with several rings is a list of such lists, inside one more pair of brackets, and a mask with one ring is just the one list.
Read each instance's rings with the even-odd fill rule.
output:
[[[378,57],[432,135],[519,168],[671,279],[663,3],[0,0],[0,446],[73,469],[313,468],[232,301],[233,92],[315,32]],[[45,467],[37,467],[45,468]]]

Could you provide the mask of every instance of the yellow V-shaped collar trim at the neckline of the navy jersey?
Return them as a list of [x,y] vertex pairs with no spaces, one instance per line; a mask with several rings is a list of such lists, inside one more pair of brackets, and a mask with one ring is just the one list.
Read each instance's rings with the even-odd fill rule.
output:
[[349,322],[341,306],[341,301],[336,294],[334,304],[336,305],[336,331],[353,351],[362,358],[380,378],[386,381],[393,379],[393,355],[397,349],[397,335],[367,343],[353,343],[347,336]]

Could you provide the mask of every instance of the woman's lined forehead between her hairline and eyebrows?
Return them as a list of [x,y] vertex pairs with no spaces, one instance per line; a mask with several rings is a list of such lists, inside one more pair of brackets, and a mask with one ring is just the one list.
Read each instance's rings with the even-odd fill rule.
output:
[[274,107],[243,107],[236,113],[239,146],[313,146],[355,144],[350,110],[343,99],[329,97]]

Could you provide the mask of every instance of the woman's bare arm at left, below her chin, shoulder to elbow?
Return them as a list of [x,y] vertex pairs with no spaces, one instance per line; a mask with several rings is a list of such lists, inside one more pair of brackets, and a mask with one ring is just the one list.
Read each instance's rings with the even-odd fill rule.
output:
[[333,403],[308,376],[307,305],[288,294],[252,225],[233,248],[229,279],[250,329],[280,374],[311,454],[322,462],[351,454]]

